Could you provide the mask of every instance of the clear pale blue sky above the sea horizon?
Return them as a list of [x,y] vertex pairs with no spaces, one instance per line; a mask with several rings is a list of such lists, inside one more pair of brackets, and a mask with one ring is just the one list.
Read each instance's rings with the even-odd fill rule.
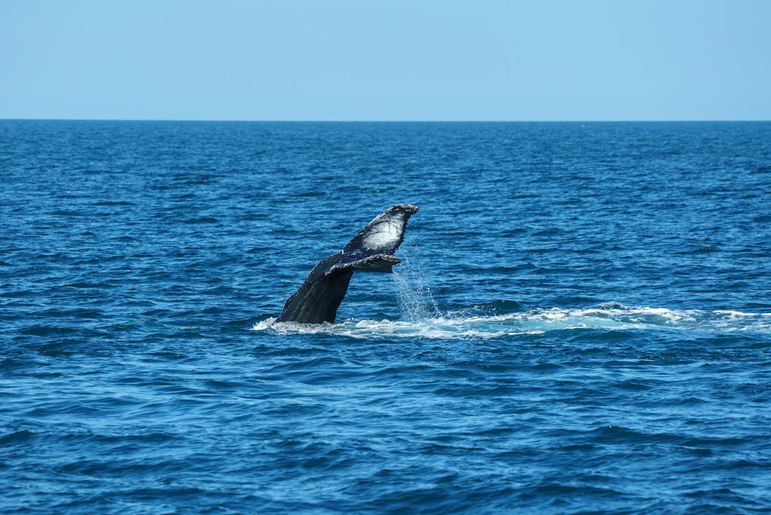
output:
[[0,118],[771,120],[771,0],[0,0]]

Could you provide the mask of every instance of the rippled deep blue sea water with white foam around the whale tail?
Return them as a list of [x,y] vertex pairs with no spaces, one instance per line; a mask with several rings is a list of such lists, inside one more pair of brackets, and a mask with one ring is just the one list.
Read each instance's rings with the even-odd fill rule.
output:
[[769,269],[771,123],[0,120],[0,512],[769,513]]

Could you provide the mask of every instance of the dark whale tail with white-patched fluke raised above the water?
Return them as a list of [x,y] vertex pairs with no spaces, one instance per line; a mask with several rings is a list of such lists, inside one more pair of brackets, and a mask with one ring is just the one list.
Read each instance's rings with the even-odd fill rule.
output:
[[397,204],[377,215],[342,252],[322,259],[311,270],[305,283],[284,303],[276,321],[334,322],[355,271],[392,273],[392,267],[401,263],[393,253],[404,241],[407,220],[416,212],[416,205]]

